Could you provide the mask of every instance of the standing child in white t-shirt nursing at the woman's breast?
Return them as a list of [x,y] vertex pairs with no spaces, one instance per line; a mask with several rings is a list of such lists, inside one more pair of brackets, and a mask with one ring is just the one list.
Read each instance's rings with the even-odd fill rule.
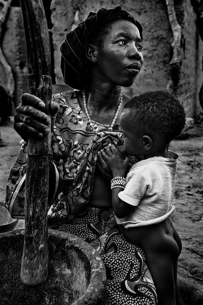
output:
[[125,178],[129,158],[114,145],[102,151],[112,170],[114,215],[125,239],[140,246],[157,289],[158,305],[183,305],[177,287],[181,241],[169,216],[178,155],[169,143],[185,126],[183,106],[169,92],[149,91],[132,98],[121,112],[124,146],[130,156],[143,155]]

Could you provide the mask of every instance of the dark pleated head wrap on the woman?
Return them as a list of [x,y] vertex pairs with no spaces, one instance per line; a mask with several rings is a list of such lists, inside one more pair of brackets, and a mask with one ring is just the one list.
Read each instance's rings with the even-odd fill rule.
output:
[[71,32],[66,34],[66,39],[60,47],[61,71],[65,84],[74,89],[84,89],[89,82],[88,59],[86,57],[87,37],[99,31],[112,20],[129,20],[136,25],[142,39],[142,26],[132,15],[121,9],[100,9],[97,13],[90,12],[87,19],[78,24]]

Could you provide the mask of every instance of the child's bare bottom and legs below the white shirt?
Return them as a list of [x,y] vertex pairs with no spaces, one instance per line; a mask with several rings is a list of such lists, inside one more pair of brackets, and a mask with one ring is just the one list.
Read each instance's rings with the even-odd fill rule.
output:
[[158,305],[176,305],[174,267],[179,256],[179,247],[173,238],[169,219],[145,227],[119,227],[125,239],[143,248],[157,290]]

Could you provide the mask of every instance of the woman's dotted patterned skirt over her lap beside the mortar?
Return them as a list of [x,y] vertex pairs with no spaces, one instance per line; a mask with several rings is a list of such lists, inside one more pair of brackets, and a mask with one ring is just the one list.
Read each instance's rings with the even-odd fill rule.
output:
[[111,211],[87,208],[71,221],[49,219],[48,224],[49,228],[81,237],[100,253],[107,271],[107,305],[155,305],[155,287],[143,250],[124,239]]

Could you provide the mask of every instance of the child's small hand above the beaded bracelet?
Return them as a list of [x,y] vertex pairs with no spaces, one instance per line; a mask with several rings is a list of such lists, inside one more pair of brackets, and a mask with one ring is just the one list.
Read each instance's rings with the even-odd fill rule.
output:
[[129,157],[122,160],[115,146],[111,144],[109,144],[107,149],[103,150],[101,154],[108,166],[111,168],[114,177],[125,176],[125,171],[130,161]]

